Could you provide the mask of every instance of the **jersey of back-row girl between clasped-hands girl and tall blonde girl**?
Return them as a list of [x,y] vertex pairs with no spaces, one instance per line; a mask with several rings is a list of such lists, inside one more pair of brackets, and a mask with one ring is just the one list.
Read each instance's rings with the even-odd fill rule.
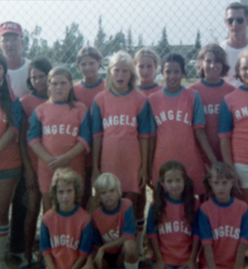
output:
[[[90,110],[90,115],[92,116],[93,100],[99,92],[104,91],[104,80],[99,79],[94,85],[87,85],[81,80],[74,84],[73,88],[76,98],[86,105],[86,107]],[[92,166],[92,152],[85,156],[85,165],[86,167]]]

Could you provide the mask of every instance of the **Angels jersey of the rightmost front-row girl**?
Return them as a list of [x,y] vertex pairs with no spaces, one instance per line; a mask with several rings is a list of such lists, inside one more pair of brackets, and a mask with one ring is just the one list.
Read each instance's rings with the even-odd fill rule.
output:
[[[247,204],[231,197],[227,204],[220,204],[212,197],[201,204],[199,230],[202,245],[211,244],[218,269],[234,268],[239,242],[248,242]],[[207,269],[203,253],[201,268]]]

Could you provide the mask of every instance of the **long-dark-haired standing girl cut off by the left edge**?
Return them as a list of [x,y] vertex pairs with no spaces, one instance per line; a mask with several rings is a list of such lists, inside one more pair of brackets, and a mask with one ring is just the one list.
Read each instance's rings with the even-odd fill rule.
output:
[[10,93],[7,82],[7,62],[0,55],[0,268],[9,234],[9,209],[15,188],[21,177],[21,156],[17,143],[21,128],[21,103]]

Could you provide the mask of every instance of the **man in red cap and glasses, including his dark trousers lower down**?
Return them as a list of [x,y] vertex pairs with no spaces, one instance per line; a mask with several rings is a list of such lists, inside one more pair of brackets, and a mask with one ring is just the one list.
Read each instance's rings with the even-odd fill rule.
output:
[[[11,79],[13,93],[22,97],[29,93],[26,84],[28,65],[30,60],[21,56],[24,45],[21,25],[16,22],[3,22],[0,24],[1,48],[6,57],[8,74]],[[24,258],[24,221],[26,216],[25,180],[21,178],[13,198],[12,227],[10,252]]]

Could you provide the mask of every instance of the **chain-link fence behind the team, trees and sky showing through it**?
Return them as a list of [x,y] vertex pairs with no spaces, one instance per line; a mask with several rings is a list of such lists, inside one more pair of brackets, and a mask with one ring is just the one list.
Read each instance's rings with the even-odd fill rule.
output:
[[[74,79],[75,59],[86,45],[105,56],[124,49],[132,55],[151,46],[160,56],[184,56],[189,77],[198,50],[227,38],[224,15],[230,0],[89,0],[1,1],[1,21],[19,22],[24,29],[23,55],[47,56],[67,65]],[[243,0],[243,2],[246,2]],[[105,67],[106,70],[106,67]],[[106,74],[101,70],[101,75]]]

